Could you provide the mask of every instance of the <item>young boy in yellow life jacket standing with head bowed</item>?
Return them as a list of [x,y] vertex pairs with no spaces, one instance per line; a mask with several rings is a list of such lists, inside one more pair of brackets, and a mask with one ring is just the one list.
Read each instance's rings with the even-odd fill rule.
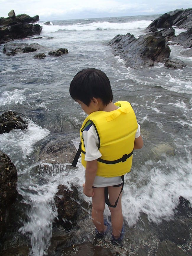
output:
[[112,102],[110,81],[101,70],[78,72],[69,91],[88,114],[80,130],[85,167],[83,192],[92,197],[96,234],[102,237],[109,228],[103,217],[106,202],[111,213],[112,241],[120,243],[124,233],[121,192],[124,176],[131,169],[133,150],[143,146],[140,127],[130,103]]

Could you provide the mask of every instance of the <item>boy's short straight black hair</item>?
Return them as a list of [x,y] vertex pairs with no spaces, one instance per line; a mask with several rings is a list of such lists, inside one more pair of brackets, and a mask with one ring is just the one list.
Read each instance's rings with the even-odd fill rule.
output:
[[109,78],[95,68],[79,71],[71,81],[69,93],[71,98],[82,101],[87,106],[93,97],[100,98],[106,105],[113,100]]

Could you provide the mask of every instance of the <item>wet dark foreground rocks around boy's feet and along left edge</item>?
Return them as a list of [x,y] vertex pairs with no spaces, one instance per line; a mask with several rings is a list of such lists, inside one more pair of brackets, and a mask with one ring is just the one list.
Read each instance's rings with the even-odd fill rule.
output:
[[[12,129],[27,129],[25,121],[12,111],[0,116],[0,124],[1,127],[6,126],[6,130],[2,129],[2,132],[9,132]],[[65,148],[64,145],[69,145],[69,143],[64,140],[68,140],[67,136],[65,138],[58,136],[57,139],[42,145],[39,161],[44,159],[52,165],[70,163],[75,153],[74,148],[72,145],[72,148],[70,146],[69,149]],[[1,255],[28,256],[31,250],[29,237],[18,231],[22,225],[21,218],[25,219],[25,210],[22,210],[22,198],[17,192],[17,170],[3,152],[0,152],[0,163]],[[46,172],[46,168],[46,165],[43,165],[36,171],[41,171],[42,174]],[[69,164],[65,171],[70,170]],[[121,246],[111,244],[110,232],[105,239],[95,238],[95,229],[90,218],[91,208],[86,202],[79,199],[76,187],[72,185],[69,190],[60,184],[54,199],[58,216],[53,223],[53,234],[48,248],[49,256],[83,256],[85,252],[88,252],[89,255],[92,253],[94,255],[102,253],[102,255],[126,256],[192,255],[192,208],[191,204],[183,197],[180,197],[179,205],[174,210],[174,217],[170,221],[162,220],[161,223],[153,223],[145,214],[141,213],[133,227],[128,227],[125,223],[126,232]],[[89,238],[85,236],[84,242],[77,244],[74,241],[78,240],[76,233],[78,233],[77,223],[79,222],[84,222],[84,225],[88,227]]]

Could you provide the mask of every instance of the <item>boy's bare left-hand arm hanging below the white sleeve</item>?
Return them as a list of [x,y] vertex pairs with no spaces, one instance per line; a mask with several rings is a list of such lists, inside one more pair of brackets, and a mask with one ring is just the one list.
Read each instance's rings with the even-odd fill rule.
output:
[[85,168],[85,183],[83,184],[83,193],[87,197],[93,197],[93,182],[97,173],[97,159],[87,161]]

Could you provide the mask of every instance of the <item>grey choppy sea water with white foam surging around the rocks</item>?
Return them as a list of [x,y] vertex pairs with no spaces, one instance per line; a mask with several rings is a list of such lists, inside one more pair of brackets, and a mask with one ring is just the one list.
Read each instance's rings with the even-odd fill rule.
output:
[[[171,45],[171,56],[186,63],[183,69],[170,69],[162,63],[131,69],[108,46],[118,34],[143,35],[144,29],[157,17],[59,20],[51,21],[51,26],[39,22],[43,26],[40,36],[15,42],[45,46],[44,60],[34,59],[34,53],[6,56],[3,45],[0,46],[0,114],[17,111],[28,123],[25,131],[13,130],[0,135],[0,150],[15,164],[18,192],[24,203],[31,206],[19,231],[30,236],[32,255],[42,256],[48,247],[57,216],[53,197],[59,184],[68,187],[74,184],[79,197],[91,202],[82,193],[84,168],[80,161],[78,170],[73,172],[66,172],[66,163],[55,166],[46,163],[49,168],[44,175],[34,171],[45,164],[35,157],[41,141],[48,142],[48,135],[74,133],[76,136],[79,132],[86,114],[70,98],[69,85],[83,68],[95,67],[105,72],[114,101],[131,102],[141,126],[144,146],[135,150],[123,192],[126,225],[133,226],[141,212],[156,223],[170,219],[180,196],[192,202],[192,58],[181,54],[183,47]],[[179,34],[183,30],[175,32]],[[69,54],[48,56],[50,50],[61,47],[67,48]],[[108,214],[107,209],[105,213]]]

